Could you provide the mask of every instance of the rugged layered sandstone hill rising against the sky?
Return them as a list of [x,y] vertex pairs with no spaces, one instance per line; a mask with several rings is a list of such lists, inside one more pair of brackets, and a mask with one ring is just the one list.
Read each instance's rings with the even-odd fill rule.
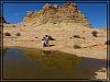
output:
[[75,3],[65,3],[64,5],[46,3],[42,10],[36,12],[28,12],[23,19],[24,25],[40,25],[45,23],[59,24],[78,23],[90,27],[88,19],[81,13]]

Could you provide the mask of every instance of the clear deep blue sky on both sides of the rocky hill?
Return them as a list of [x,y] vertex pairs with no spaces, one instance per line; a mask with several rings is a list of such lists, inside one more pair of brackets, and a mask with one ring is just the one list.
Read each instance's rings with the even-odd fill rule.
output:
[[[10,23],[20,23],[26,11],[38,11],[45,3],[3,3],[3,16]],[[107,27],[106,3],[77,3],[94,27]]]

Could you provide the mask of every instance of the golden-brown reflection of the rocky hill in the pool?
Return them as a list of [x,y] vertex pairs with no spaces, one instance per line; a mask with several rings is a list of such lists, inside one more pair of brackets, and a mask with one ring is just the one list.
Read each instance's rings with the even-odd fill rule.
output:
[[41,66],[41,69],[51,70],[51,69],[61,69],[61,70],[70,70],[77,66],[81,58],[65,54],[62,51],[50,51],[41,49],[23,49],[25,55],[34,60],[37,65]]

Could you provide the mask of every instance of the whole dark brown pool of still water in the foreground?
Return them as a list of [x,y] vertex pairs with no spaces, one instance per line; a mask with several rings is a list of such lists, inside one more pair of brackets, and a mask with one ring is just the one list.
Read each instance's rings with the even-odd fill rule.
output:
[[92,79],[105,60],[62,51],[10,48],[3,57],[4,79]]

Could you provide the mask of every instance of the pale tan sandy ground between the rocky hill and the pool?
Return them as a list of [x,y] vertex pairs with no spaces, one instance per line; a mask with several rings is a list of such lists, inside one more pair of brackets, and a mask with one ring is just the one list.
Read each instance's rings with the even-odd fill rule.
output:
[[[51,35],[55,39],[50,40],[50,45],[53,46],[43,49],[62,50],[80,57],[107,59],[107,45],[105,45],[107,33],[105,30],[96,28],[98,31],[98,37],[95,37],[91,35],[95,28],[75,24],[68,24],[66,26],[68,28],[65,27],[65,23],[61,25],[61,28],[57,25],[46,24],[33,27],[32,30],[29,27],[18,27],[18,32],[16,27],[7,27],[3,32],[10,32],[12,36],[4,36],[3,46],[42,48],[41,39],[44,35]],[[15,33],[21,33],[21,36],[15,36]],[[80,38],[75,38],[74,35],[79,35]],[[82,48],[74,49],[75,44]]]

